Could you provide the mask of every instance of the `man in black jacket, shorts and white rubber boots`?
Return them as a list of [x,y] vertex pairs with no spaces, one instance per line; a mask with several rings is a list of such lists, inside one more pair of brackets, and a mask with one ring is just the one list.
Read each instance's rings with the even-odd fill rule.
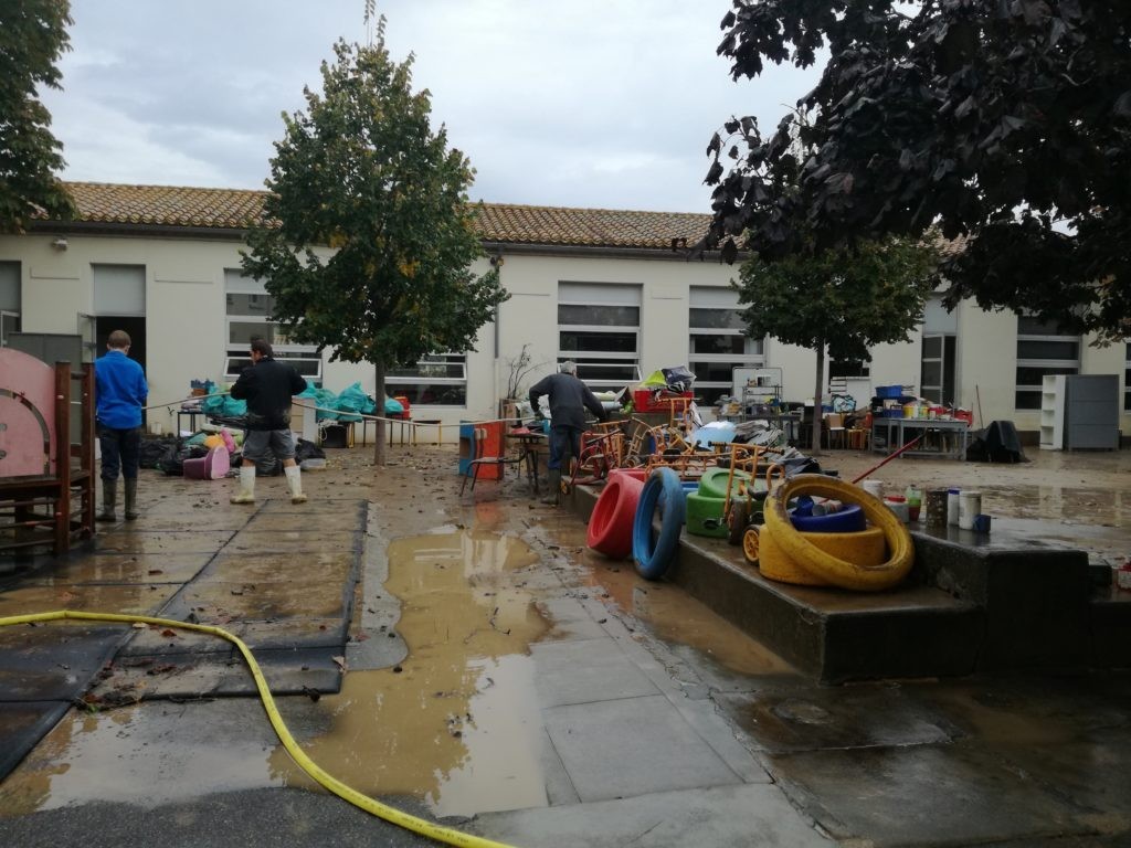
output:
[[256,502],[256,462],[268,450],[283,460],[283,473],[291,490],[291,503],[302,503],[302,471],[294,460],[291,434],[291,398],[307,388],[307,381],[293,366],[274,357],[266,339],[251,341],[251,366],[243,370],[232,387],[232,397],[248,401],[248,433],[243,440],[240,491],[232,503]]

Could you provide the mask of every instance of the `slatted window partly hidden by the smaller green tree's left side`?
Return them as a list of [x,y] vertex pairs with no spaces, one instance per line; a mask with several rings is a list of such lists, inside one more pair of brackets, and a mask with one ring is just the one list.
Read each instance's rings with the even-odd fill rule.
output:
[[762,339],[746,338],[739,293],[733,288],[691,286],[688,311],[688,367],[696,397],[713,405],[734,388],[734,369],[765,364]]

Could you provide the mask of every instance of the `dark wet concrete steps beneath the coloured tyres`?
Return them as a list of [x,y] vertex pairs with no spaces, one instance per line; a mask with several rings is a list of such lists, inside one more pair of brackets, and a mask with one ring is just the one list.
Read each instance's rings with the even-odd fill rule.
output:
[[[567,503],[588,521],[599,491]],[[822,683],[1128,665],[1131,603],[1096,590],[1083,552],[1008,531],[913,537],[915,568],[882,592],[767,580],[739,547],[687,531],[664,579]]]

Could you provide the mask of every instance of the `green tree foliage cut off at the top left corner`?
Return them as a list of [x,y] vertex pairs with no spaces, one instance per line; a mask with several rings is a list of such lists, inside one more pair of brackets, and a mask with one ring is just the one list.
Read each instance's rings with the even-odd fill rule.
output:
[[21,233],[27,218],[74,215],[70,196],[54,172],[64,163],[51,135],[51,114],[36,87],[59,88],[55,62],[70,50],[67,0],[0,3],[0,232]]

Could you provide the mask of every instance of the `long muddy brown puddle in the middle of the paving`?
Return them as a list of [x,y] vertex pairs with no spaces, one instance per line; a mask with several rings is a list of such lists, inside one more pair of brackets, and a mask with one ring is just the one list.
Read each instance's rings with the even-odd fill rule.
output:
[[[303,749],[359,791],[415,796],[440,816],[545,806],[528,650],[550,625],[507,577],[537,555],[463,530],[394,540],[388,559],[408,656],[399,670],[346,674],[312,706],[329,729]],[[270,762],[284,782],[313,786],[282,747]]]

